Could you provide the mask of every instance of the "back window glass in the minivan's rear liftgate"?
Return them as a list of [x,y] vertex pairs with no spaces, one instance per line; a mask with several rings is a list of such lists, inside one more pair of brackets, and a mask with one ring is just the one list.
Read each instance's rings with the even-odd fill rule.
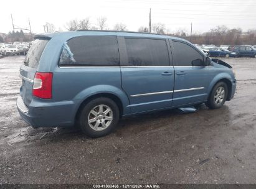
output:
[[49,40],[43,39],[36,39],[33,42],[33,45],[29,48],[29,52],[27,52],[27,56],[24,61],[27,67],[37,68],[47,42],[49,42]]

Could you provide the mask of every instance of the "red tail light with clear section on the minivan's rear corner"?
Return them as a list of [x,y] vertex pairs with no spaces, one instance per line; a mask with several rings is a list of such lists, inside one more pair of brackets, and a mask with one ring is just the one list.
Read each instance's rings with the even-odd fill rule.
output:
[[52,73],[36,72],[33,95],[39,98],[52,98]]

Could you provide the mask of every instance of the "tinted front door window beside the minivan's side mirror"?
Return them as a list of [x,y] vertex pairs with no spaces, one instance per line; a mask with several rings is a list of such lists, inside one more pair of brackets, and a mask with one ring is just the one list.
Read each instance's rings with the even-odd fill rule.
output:
[[203,56],[193,47],[183,42],[173,42],[176,65],[178,66],[199,66],[202,65]]

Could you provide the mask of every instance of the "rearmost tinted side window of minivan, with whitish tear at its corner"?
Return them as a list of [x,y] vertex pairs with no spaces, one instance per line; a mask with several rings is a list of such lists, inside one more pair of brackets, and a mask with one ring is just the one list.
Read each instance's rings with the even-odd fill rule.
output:
[[60,65],[119,66],[118,44],[115,36],[74,37],[64,44]]

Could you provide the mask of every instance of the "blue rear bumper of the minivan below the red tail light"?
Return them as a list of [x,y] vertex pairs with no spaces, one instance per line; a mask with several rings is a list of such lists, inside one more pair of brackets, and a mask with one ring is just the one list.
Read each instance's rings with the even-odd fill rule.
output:
[[16,101],[17,110],[24,121],[33,127],[70,127],[74,125],[75,103],[73,101],[48,102],[33,99],[26,106],[21,97]]

